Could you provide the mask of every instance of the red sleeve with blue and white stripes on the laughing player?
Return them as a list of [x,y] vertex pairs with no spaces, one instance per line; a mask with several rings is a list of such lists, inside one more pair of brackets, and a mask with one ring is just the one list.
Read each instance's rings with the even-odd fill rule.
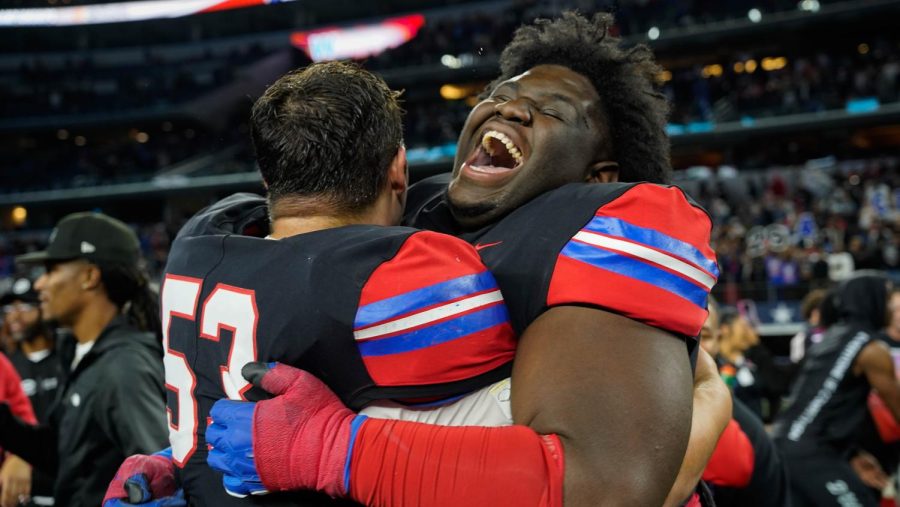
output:
[[719,275],[709,216],[675,187],[636,185],[601,206],[559,254],[547,305],[591,305],[696,336]]

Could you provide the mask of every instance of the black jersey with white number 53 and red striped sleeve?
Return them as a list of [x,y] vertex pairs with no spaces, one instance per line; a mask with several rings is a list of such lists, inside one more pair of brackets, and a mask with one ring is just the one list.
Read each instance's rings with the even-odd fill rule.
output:
[[509,376],[508,313],[471,245],[405,227],[281,240],[260,237],[266,230],[265,201],[232,196],[185,225],[166,266],[170,441],[193,503],[332,502],[311,493],[238,500],[207,466],[212,404],[259,399],[241,377],[249,361],[308,370],[355,410],[374,400],[456,396]]

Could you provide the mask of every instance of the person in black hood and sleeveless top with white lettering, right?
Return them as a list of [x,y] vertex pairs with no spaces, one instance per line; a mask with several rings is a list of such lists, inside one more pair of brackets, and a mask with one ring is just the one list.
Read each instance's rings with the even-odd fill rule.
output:
[[835,323],[807,351],[773,431],[795,507],[877,505],[847,460],[866,417],[870,389],[900,420],[900,383],[890,351],[878,339],[890,318],[890,286],[880,274],[861,273],[827,299],[834,315],[829,310],[826,320]]

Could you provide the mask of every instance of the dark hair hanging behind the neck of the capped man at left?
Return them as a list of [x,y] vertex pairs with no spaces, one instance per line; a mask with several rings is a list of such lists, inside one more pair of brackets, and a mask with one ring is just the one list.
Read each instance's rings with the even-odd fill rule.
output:
[[125,308],[128,321],[141,331],[162,339],[159,320],[159,295],[138,266],[121,263],[97,263],[106,296],[120,310]]

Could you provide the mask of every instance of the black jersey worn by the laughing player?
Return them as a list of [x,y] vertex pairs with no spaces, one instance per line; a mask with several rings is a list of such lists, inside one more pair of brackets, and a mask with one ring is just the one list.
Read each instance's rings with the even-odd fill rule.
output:
[[516,332],[550,307],[580,305],[683,337],[699,333],[718,277],[712,224],[677,187],[570,184],[465,231],[450,213],[448,181],[440,175],[410,188],[405,222],[474,245],[503,290]]

